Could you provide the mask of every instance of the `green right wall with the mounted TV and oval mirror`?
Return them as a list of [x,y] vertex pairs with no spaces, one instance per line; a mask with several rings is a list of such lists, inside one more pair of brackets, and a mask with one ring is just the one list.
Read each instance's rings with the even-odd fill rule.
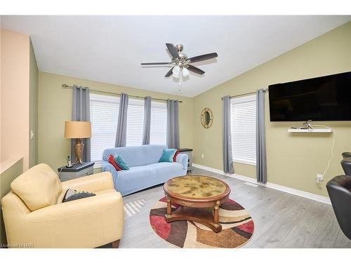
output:
[[[308,79],[351,71],[351,22],[317,39],[304,43],[249,72],[230,79],[194,97],[194,163],[223,170],[221,97],[267,88],[270,84]],[[315,183],[331,156],[333,134],[291,134],[287,129],[301,122],[270,122],[266,95],[267,180],[313,194],[327,196],[325,183],[342,175],[341,153],[351,150],[351,121],[314,122],[335,130],[334,158],[324,182]],[[213,111],[213,125],[201,126],[199,115],[205,107]],[[204,154],[204,159],[201,158]],[[256,166],[234,163],[239,175],[256,177]]]

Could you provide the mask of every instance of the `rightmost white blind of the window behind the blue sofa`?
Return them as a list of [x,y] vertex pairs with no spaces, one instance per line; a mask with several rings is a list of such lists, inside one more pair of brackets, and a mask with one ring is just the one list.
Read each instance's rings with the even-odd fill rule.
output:
[[151,102],[150,144],[166,145],[166,102]]

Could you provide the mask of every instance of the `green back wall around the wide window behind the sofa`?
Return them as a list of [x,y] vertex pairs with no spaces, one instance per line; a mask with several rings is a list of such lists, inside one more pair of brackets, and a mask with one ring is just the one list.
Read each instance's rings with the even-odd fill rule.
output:
[[[163,99],[183,100],[183,103],[180,103],[179,106],[180,147],[193,147],[193,99],[190,97],[180,97],[39,72],[39,163],[48,163],[51,168],[57,170],[58,167],[65,165],[66,156],[70,155],[70,142],[63,137],[63,134],[65,121],[72,119],[72,90],[63,89],[61,87],[63,83],[69,86],[74,84],[77,86],[88,86],[94,90],[113,93],[125,92],[128,95],[143,97],[148,95]],[[95,170],[95,172],[98,171]]]

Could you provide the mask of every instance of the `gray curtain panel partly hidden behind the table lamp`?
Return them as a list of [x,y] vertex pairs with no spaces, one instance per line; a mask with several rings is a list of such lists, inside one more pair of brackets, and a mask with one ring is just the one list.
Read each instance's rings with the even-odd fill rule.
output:
[[[72,121],[90,121],[90,97],[89,88],[83,88],[78,86],[73,86],[73,112]],[[91,161],[91,144],[90,138],[82,139],[84,143],[84,151],[82,159],[83,161]],[[76,140],[71,140],[71,160],[76,159],[76,154],[74,154],[74,144]]]

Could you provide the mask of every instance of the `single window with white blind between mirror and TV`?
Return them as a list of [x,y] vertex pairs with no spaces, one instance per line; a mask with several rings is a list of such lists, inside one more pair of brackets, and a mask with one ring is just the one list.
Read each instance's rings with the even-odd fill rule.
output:
[[231,100],[233,161],[256,165],[256,95]]

